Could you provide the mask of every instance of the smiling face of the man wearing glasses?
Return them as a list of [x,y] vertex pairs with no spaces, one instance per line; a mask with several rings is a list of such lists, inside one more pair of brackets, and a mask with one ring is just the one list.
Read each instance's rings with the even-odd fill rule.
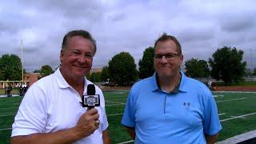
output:
[[172,40],[158,42],[154,51],[154,69],[158,76],[172,77],[178,74],[183,55],[178,54],[176,44]]

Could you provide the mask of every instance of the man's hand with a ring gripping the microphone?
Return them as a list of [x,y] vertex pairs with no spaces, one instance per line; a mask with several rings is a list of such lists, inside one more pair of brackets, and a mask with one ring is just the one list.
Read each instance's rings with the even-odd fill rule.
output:
[[93,134],[94,130],[97,130],[99,126],[98,118],[98,110],[95,108],[87,110],[86,113],[82,114],[74,129],[78,137],[85,138]]

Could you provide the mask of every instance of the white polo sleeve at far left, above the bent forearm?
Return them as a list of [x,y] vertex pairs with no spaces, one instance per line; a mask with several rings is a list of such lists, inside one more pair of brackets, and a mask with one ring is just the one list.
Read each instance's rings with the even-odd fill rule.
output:
[[18,108],[11,137],[44,132],[46,118],[45,94],[38,86],[33,85],[26,92]]

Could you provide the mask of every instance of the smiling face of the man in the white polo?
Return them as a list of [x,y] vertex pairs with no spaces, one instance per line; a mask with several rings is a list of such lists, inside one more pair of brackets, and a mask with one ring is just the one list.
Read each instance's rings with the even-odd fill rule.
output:
[[61,51],[61,70],[67,77],[84,77],[89,73],[94,57],[94,45],[81,36],[69,38]]

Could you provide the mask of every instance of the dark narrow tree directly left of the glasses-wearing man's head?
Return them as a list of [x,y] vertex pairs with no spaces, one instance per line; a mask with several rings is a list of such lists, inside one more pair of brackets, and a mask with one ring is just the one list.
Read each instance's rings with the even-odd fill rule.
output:
[[139,78],[148,78],[154,74],[154,48],[148,47],[138,62]]

